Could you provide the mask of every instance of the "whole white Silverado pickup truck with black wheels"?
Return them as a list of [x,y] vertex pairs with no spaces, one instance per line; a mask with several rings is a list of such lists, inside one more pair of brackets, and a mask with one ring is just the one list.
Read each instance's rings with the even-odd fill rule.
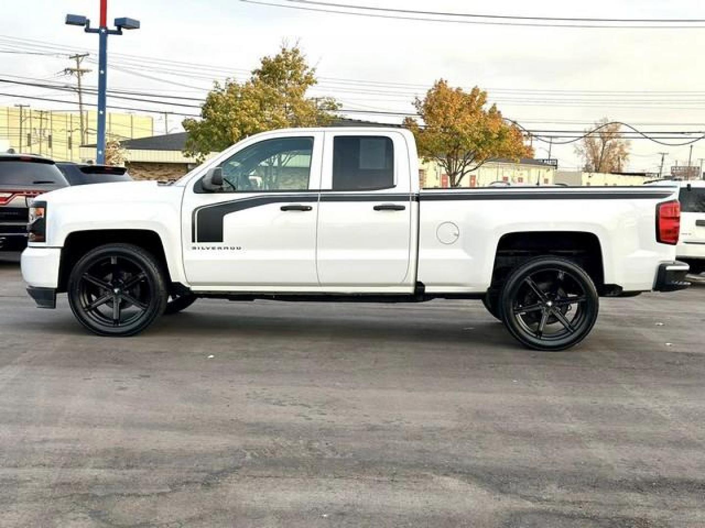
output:
[[42,308],[129,336],[196,298],[478,299],[522,344],[568,348],[599,296],[688,286],[678,189],[419,190],[398,128],[249,137],[178,182],[72,187],[37,199],[22,256]]

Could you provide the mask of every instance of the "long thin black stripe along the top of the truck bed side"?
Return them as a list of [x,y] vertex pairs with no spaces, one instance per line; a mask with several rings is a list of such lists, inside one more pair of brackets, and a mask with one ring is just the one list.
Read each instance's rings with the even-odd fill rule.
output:
[[448,192],[421,194],[421,201],[482,201],[482,200],[654,200],[671,196],[673,192]]

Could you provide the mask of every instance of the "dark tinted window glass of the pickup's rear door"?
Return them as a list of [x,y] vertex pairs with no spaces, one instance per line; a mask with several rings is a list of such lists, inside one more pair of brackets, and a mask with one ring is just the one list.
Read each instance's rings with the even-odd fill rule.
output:
[[333,191],[393,189],[394,144],[386,136],[333,138]]

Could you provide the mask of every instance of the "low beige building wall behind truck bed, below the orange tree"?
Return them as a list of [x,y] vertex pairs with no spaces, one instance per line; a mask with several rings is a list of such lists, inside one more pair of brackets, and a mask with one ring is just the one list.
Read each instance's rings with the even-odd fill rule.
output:
[[[435,161],[420,162],[422,187],[437,189],[448,187],[450,182],[444,177],[445,171]],[[473,170],[460,180],[460,187],[487,187],[492,182],[509,182],[518,185],[552,185],[556,169],[551,165],[534,165],[511,163],[505,161],[488,161],[477,170]]]

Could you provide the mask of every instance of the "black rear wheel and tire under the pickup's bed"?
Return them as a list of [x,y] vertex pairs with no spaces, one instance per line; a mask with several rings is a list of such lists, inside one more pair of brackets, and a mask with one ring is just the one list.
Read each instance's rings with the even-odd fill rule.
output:
[[509,275],[501,294],[504,325],[521,344],[565,350],[590,333],[599,296],[589,275],[565,258],[540,257]]

